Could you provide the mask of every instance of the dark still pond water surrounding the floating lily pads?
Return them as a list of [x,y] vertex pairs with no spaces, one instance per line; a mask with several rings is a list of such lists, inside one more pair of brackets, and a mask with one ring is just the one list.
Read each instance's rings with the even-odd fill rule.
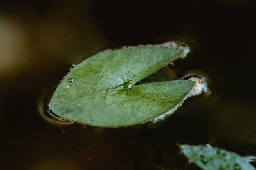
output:
[[[197,170],[177,144],[256,155],[253,0],[5,2],[0,5],[0,167],[4,170]],[[72,64],[97,51],[182,41],[175,76],[207,77],[155,126],[109,129],[42,118]],[[170,70],[171,70],[170,69]],[[58,123],[56,123],[58,122]]]

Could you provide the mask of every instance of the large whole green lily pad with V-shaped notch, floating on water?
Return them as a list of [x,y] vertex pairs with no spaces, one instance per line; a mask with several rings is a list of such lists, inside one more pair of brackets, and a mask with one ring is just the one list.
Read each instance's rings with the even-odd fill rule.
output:
[[91,126],[116,128],[163,115],[191,91],[190,80],[134,85],[181,57],[182,49],[137,46],[107,50],[72,68],[49,104],[60,117]]

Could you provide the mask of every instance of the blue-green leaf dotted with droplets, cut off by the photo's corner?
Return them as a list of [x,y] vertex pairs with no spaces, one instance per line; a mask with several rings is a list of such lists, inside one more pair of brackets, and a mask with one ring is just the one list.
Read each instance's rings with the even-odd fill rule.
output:
[[244,157],[224,149],[198,145],[180,145],[182,154],[203,170],[256,170]]

